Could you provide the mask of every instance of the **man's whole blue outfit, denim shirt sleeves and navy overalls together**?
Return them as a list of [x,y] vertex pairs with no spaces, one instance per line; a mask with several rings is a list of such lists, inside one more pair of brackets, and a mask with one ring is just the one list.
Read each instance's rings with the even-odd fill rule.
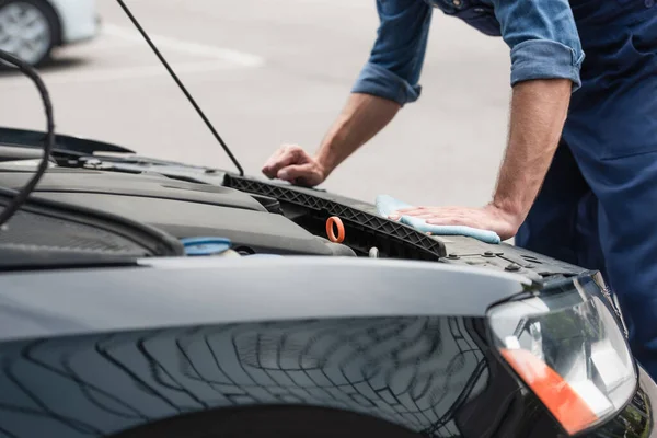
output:
[[[354,92],[420,95],[434,8],[510,47],[511,84],[568,78],[562,141],[516,244],[603,273],[633,354],[657,379],[656,0],[377,0]],[[449,42],[445,42],[449,44]],[[584,55],[586,54],[586,55]],[[655,211],[652,209],[655,208]]]

